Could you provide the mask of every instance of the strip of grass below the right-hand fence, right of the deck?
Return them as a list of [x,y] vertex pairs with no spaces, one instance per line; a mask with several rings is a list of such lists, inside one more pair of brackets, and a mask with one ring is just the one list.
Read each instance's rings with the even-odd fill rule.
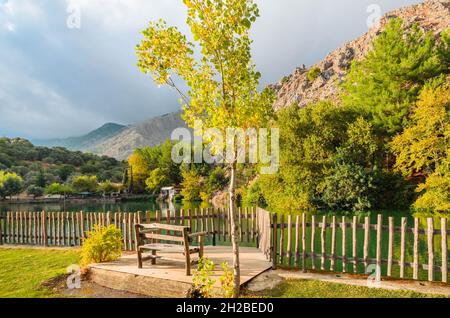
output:
[[287,280],[257,296],[270,298],[428,298],[435,295],[312,280]]

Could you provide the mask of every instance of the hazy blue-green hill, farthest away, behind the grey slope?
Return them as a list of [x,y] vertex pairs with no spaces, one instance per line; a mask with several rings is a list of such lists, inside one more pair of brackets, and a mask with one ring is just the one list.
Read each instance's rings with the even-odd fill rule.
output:
[[42,147],[64,147],[69,150],[89,151],[99,143],[108,140],[125,130],[127,126],[107,123],[90,133],[63,139],[31,140],[36,146]]

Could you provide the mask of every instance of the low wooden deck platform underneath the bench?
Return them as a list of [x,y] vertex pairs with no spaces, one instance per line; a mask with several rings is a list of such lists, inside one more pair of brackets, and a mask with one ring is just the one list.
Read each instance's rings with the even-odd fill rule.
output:
[[[160,259],[156,265],[144,262],[144,268],[137,267],[135,254],[124,255],[113,263],[96,264],[90,267],[91,280],[111,289],[143,294],[152,297],[184,298],[192,286],[192,276],[185,275],[183,256],[180,254],[158,253],[162,257],[180,259],[181,262]],[[213,279],[216,287],[220,287],[219,277],[222,275],[220,264],[233,264],[231,247],[207,246],[205,257],[216,265]],[[256,248],[241,247],[241,285],[270,269],[272,264],[264,254]]]

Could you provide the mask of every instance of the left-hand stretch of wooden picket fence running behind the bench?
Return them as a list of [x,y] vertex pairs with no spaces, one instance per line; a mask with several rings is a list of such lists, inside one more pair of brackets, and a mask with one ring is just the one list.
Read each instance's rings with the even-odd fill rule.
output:
[[[135,249],[136,223],[166,223],[189,226],[192,232],[208,233],[208,243],[227,244],[230,226],[226,209],[193,209],[156,212],[6,212],[0,214],[0,244],[50,247],[81,246],[95,224],[115,224],[122,231],[123,248]],[[257,213],[254,208],[238,210],[239,240],[258,244]]]

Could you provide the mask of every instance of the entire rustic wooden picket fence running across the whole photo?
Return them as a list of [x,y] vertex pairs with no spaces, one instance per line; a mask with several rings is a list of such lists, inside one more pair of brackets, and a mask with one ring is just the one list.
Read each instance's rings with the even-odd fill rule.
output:
[[[436,281],[440,273],[440,280],[448,282],[450,231],[445,218],[439,224],[429,218],[424,225],[416,218],[408,227],[407,218],[396,225],[394,217],[383,220],[382,215],[371,224],[369,217],[360,222],[356,216],[269,216],[261,209],[244,208],[238,209],[237,221],[241,244],[264,249],[273,268],[359,274],[375,266],[377,278]],[[134,224],[155,222],[207,232],[208,244],[231,242],[228,210],[208,208],[175,213],[7,212],[0,214],[0,244],[76,247],[95,224],[115,224],[122,231],[124,250],[133,251]]]

